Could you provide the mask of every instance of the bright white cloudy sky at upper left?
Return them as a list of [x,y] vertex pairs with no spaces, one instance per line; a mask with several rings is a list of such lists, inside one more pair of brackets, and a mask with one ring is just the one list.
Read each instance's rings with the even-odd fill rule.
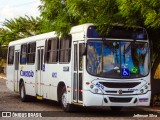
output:
[[14,19],[20,16],[40,16],[38,6],[40,0],[0,0],[0,26],[5,19]]

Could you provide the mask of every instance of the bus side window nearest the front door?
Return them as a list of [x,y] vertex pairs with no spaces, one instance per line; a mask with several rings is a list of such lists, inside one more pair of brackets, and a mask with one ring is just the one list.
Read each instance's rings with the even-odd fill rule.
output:
[[60,50],[59,50],[59,61],[61,63],[70,62],[71,57],[71,36],[67,36],[66,38],[60,40]]

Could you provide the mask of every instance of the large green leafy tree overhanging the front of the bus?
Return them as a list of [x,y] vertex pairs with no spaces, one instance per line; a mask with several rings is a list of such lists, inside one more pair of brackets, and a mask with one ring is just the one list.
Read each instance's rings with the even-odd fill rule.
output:
[[103,31],[103,25],[123,24],[142,26],[153,41],[154,59],[160,52],[159,0],[41,0],[41,16],[51,30],[67,34],[72,26],[94,23]]

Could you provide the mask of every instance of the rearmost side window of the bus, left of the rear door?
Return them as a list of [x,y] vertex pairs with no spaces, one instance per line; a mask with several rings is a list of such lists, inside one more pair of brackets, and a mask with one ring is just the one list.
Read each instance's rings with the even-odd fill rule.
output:
[[14,62],[14,46],[9,47],[8,64],[12,65]]

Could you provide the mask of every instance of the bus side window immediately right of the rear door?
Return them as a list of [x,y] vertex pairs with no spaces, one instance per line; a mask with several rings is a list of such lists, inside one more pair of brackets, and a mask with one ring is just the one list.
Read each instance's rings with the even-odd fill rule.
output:
[[20,64],[26,64],[27,62],[27,44],[21,45]]

